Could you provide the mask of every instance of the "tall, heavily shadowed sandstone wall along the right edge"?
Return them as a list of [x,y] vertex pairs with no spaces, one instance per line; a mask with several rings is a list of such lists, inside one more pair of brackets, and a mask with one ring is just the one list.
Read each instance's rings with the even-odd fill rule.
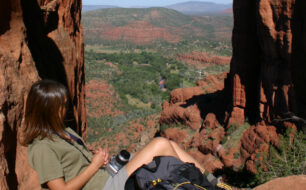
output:
[[232,90],[232,115],[251,123],[288,112],[305,118],[305,1],[236,0],[233,7],[227,86]]

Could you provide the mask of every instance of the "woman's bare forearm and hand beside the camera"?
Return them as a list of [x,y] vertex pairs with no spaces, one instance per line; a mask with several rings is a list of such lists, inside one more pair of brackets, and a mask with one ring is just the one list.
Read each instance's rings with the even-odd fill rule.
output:
[[47,182],[50,190],[79,190],[89,179],[99,170],[100,167],[107,163],[108,154],[99,148],[95,151],[91,164],[79,175],[65,182],[64,178],[58,178]]

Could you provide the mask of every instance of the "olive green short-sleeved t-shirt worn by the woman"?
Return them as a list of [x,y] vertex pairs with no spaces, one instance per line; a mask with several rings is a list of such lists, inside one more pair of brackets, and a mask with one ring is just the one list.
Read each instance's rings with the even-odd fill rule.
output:
[[[79,137],[70,128],[66,131]],[[92,159],[92,153],[85,146],[76,142],[72,145],[57,135],[52,137],[53,140],[38,137],[28,146],[30,165],[38,173],[42,185],[61,177],[69,181],[87,168],[90,164],[88,160]],[[82,189],[101,190],[108,178],[108,173],[99,169]]]

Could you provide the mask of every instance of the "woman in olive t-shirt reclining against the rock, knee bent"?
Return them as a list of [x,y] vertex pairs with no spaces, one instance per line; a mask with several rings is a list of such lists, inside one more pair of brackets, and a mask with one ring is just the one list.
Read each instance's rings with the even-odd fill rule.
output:
[[28,146],[29,163],[43,187],[123,190],[128,177],[155,156],[172,156],[205,171],[175,142],[158,137],[135,153],[115,176],[110,176],[105,170],[108,153],[101,148],[89,151],[82,138],[64,125],[67,102],[65,86],[51,80],[34,83],[27,97],[23,144]]

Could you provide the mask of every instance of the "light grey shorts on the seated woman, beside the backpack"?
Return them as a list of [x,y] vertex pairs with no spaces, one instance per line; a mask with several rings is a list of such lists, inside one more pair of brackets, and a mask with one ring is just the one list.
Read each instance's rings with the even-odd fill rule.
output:
[[129,178],[125,167],[114,176],[110,176],[102,190],[124,190],[125,182]]

